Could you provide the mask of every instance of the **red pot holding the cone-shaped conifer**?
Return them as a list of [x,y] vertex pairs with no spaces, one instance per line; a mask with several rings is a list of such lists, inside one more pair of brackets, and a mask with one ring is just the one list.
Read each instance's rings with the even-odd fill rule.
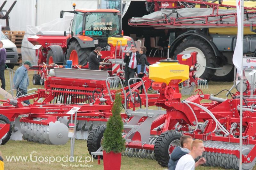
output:
[[121,168],[121,153],[103,151],[104,170],[120,170]]

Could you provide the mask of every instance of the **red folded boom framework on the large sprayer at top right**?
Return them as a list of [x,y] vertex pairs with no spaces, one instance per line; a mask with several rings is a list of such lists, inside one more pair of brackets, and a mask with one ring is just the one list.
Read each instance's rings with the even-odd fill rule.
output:
[[[212,14],[211,15],[205,15],[205,16],[191,16],[191,17],[179,17],[179,18],[175,18],[175,17],[170,17],[167,18],[166,16],[164,18],[161,19],[149,19],[149,21],[144,21],[143,23],[132,23],[131,19],[129,19],[129,25],[130,26],[154,26],[154,27],[164,27],[164,26],[168,26],[168,25],[172,25],[172,26],[227,26],[227,27],[236,27],[237,26],[237,14],[236,13],[227,13],[227,14],[219,14],[219,8],[220,7],[224,7],[224,8],[234,8],[236,9],[236,6],[233,5],[224,5],[224,4],[215,4],[215,3],[209,3],[209,2],[204,2],[204,1],[192,1],[192,0],[148,0],[148,2],[151,3],[155,3],[155,11],[159,11],[160,7],[158,5],[158,2],[174,2],[174,3],[178,3],[178,2],[186,2],[186,3],[192,3],[192,4],[200,4],[200,8],[205,8],[206,6],[210,6],[212,8]],[[180,7],[176,7],[177,8],[184,8],[185,6],[181,5]],[[214,11],[216,11],[216,13],[214,13]],[[244,10],[250,10],[250,11],[244,11],[244,14],[246,16],[246,14],[250,14],[250,13],[255,13],[256,8],[249,8],[249,7],[244,7]],[[219,17],[219,19],[213,20],[213,21],[209,21],[209,18],[212,17]],[[235,23],[234,24],[230,24],[230,23],[223,23],[222,20],[226,19],[226,18],[231,18],[234,17],[235,18]],[[255,18],[256,16],[253,17],[249,17],[245,20],[248,19],[252,19]],[[186,19],[186,20],[182,20],[182,19]],[[196,20],[204,20],[201,22],[201,24],[199,23],[194,23],[194,21]],[[186,23],[189,22],[189,23]],[[244,24],[244,26],[256,26],[256,24]]]

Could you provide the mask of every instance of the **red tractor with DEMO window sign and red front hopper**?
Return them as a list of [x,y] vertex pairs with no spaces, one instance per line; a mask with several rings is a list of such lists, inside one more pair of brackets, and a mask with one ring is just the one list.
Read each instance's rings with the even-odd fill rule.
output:
[[[75,9],[75,6],[73,4],[74,11],[60,11],[60,18],[63,18],[64,12],[75,14],[70,21],[68,32],[41,31],[37,35],[28,37],[28,41],[33,45],[42,45],[36,50],[38,66],[43,63],[63,65],[67,60],[72,60],[73,66],[84,66],[88,62],[90,52],[98,46],[102,48],[101,59],[106,57],[121,59],[126,52],[125,49],[134,45],[131,37],[123,36],[120,11]],[[119,51],[120,49],[122,52]],[[104,60],[104,62],[108,61]],[[38,74],[33,78],[33,84],[40,84],[41,76],[42,71],[38,70]]]

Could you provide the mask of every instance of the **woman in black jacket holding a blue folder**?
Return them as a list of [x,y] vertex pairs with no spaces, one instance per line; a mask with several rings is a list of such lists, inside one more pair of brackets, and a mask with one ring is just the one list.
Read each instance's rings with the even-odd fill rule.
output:
[[[139,59],[139,62],[138,62],[138,65],[141,65],[140,67],[140,70],[137,70],[137,73],[138,73],[138,78],[143,78],[145,73],[146,73],[146,64],[148,63],[147,61],[147,56],[146,56],[146,52],[147,52],[147,48],[144,47],[144,46],[141,46],[140,47],[140,59]],[[137,67],[138,68],[138,67]],[[138,82],[139,80],[137,80]],[[143,86],[141,85],[140,86],[140,91],[142,93],[142,89],[143,89]]]

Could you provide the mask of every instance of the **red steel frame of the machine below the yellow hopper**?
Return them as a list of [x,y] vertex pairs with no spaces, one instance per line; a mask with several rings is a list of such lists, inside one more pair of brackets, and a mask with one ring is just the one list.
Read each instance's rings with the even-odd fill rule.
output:
[[[166,115],[160,115],[153,121],[150,127],[150,135],[160,135],[161,133],[174,129],[174,125],[179,122],[182,125],[180,129],[183,131],[184,135],[190,135],[195,139],[201,140],[212,140],[212,141],[222,141],[222,142],[231,142],[231,143],[239,143],[239,138],[235,136],[239,136],[239,131],[235,131],[234,134],[229,134],[224,136],[223,132],[220,132],[223,136],[216,136],[212,131],[215,129],[216,123],[213,121],[212,117],[207,114],[201,108],[190,105],[195,112],[195,115],[198,119],[198,122],[205,122],[209,120],[204,132],[201,130],[193,130],[192,133],[188,129],[188,125],[194,126],[196,119],[190,110],[190,108],[180,101],[181,95],[179,94],[179,88],[177,84],[177,80],[171,80],[168,86],[172,86],[175,90],[174,97],[169,100],[165,98],[165,88],[166,85],[160,82],[153,82],[152,88],[154,90],[159,90],[160,95],[156,101],[156,106],[163,107],[166,109]],[[159,85],[160,84],[160,85]],[[231,128],[231,124],[234,122],[239,122],[239,111],[237,110],[237,106],[240,103],[240,99],[227,99],[223,102],[212,101],[211,103],[203,103],[201,104],[201,100],[210,100],[209,94],[203,94],[201,90],[197,90],[197,94],[189,97],[185,101],[190,101],[197,103],[201,106],[206,107],[208,110],[212,112],[212,114],[216,117],[216,119],[229,131]],[[255,103],[255,99],[246,99],[247,105],[249,108]],[[145,120],[141,119],[140,122]],[[255,146],[249,152],[248,155],[243,155],[243,163],[248,163],[247,157],[251,157],[253,160],[256,156],[256,128],[253,127],[253,124],[256,123],[256,116],[250,111],[243,111],[243,126],[245,128],[243,132],[243,144],[254,144]],[[164,124],[161,129],[153,130],[158,126]],[[154,144],[142,144],[139,132],[136,132],[131,139],[131,142],[126,143],[126,147],[129,148],[137,148],[137,149],[148,149],[154,150]],[[216,149],[216,148],[207,148],[205,150],[208,152],[218,152],[218,153],[228,153],[233,154],[239,157],[239,151],[228,150],[228,149]]]

